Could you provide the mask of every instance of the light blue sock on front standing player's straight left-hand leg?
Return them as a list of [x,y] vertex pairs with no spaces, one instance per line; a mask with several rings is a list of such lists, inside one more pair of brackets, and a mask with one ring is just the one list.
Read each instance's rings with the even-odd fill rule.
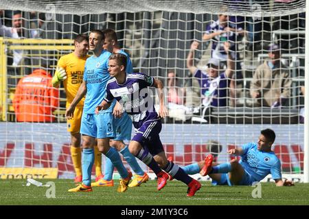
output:
[[82,149],[82,183],[84,185],[91,185],[91,170],[93,162],[93,149]]

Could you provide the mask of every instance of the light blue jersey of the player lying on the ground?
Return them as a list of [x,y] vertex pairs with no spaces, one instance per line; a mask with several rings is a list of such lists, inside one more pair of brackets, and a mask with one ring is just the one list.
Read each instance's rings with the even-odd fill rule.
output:
[[281,162],[273,151],[259,151],[258,143],[254,142],[244,144],[242,150],[244,154],[241,155],[240,164],[256,181],[261,181],[268,174],[273,179],[282,179]]

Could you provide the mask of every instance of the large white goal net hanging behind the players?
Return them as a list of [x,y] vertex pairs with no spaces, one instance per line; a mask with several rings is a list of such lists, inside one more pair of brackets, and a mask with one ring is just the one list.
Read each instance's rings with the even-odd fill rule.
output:
[[[293,174],[295,181],[301,181],[305,3],[2,0],[1,170],[58,168],[58,177],[73,178],[64,88],[58,90],[57,109],[49,115],[52,123],[16,122],[12,101],[25,75],[36,68],[54,74],[57,60],[73,50],[77,34],[109,28],[117,32],[134,71],[161,79],[167,88],[169,116],[163,120],[161,141],[176,164],[199,162],[207,153],[227,162],[233,159],[228,149],[257,142],[260,130],[271,128],[277,135],[272,149],[281,159],[282,172],[288,174],[284,176]],[[14,17],[16,10],[21,11],[20,23]],[[18,25],[22,34],[16,38],[5,31]],[[218,61],[219,77],[230,73],[225,87],[215,79],[207,85],[198,76],[214,68],[209,60]],[[268,76],[259,75],[265,68]]]

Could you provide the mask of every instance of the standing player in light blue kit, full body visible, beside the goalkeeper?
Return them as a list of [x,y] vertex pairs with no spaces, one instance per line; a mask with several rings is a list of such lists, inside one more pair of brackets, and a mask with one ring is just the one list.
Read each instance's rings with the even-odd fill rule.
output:
[[67,118],[73,118],[76,105],[80,102],[85,94],[84,110],[82,114],[82,125],[80,133],[82,133],[82,184],[69,190],[69,192],[90,192],[91,187],[91,168],[93,166],[93,146],[95,146],[95,138],[98,140],[98,149],[104,153],[106,157],[117,168],[120,179],[118,192],[125,192],[128,189],[128,183],[132,177],[132,173],[128,172],[122,164],[122,160],[116,149],[109,146],[110,138],[115,138],[115,129],[113,121],[113,107],[106,108],[100,114],[94,114],[95,107],[102,102],[106,94],[106,83],[110,79],[108,74],[108,57],[110,52],[103,49],[104,34],[100,30],[93,30],[89,35],[89,49],[93,51],[93,55],[86,61],[84,67],[84,77],[76,97],[67,109],[65,115]]

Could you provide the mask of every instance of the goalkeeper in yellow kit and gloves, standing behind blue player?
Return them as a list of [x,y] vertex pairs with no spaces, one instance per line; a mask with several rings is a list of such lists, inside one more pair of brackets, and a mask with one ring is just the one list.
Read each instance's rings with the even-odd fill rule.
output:
[[[80,34],[74,40],[75,49],[72,53],[60,57],[58,60],[56,72],[52,79],[53,86],[58,88],[60,81],[63,81],[65,92],[67,94],[66,107],[71,105],[74,97],[80,88],[84,75],[84,64],[89,57],[88,36]],[[75,182],[82,181],[82,153],[80,148],[80,121],[82,119],[82,109],[84,107],[84,98],[78,103],[74,111],[73,118],[67,120],[67,131],[71,133],[71,157],[76,172]],[[95,181],[102,179],[102,155],[95,146]]]

